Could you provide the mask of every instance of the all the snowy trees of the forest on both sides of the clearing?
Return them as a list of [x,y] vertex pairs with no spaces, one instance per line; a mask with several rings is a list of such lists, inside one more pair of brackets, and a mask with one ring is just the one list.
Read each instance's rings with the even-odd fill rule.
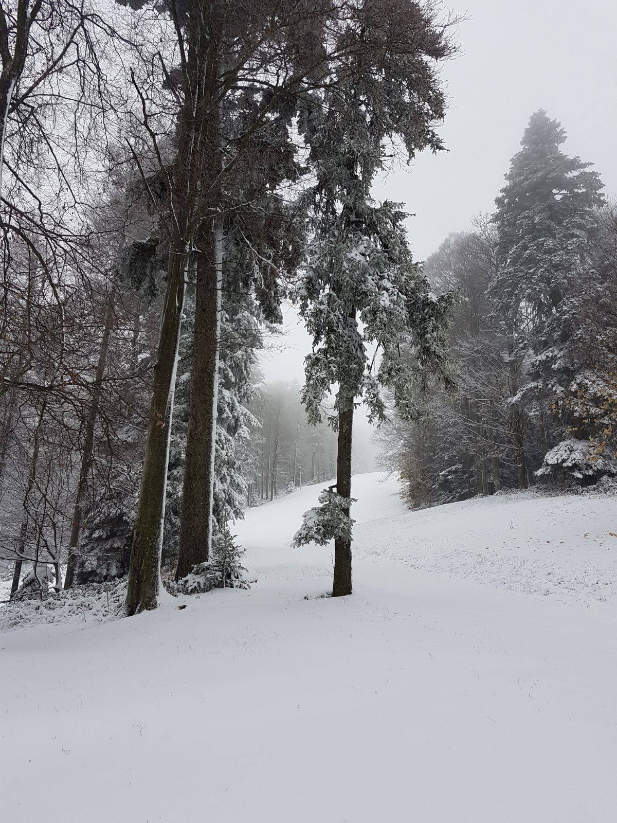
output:
[[[531,116],[493,215],[415,260],[392,157],[441,151],[457,20],[409,0],[0,12],[0,552],[126,611],[242,581],[244,509],[351,592],[354,412],[414,506],[617,473],[617,212]],[[264,384],[283,301],[304,383]],[[356,465],[356,468],[359,464]],[[290,535],[290,539],[291,539]],[[195,579],[201,584],[195,584]]]

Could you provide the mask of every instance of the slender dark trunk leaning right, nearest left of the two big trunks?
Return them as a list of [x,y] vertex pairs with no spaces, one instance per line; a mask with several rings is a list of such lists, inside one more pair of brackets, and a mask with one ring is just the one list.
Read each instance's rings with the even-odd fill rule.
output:
[[109,335],[111,334],[111,321],[114,313],[115,289],[109,295],[107,312],[105,314],[105,325],[103,329],[103,339],[100,343],[99,362],[96,365],[95,388],[92,392],[92,400],[88,417],[86,420],[86,435],[84,437],[84,450],[81,453],[81,468],[79,481],[77,482],[77,494],[75,495],[75,508],[73,509],[73,519],[71,526],[71,539],[68,544],[67,573],[64,576],[64,588],[71,588],[77,566],[77,543],[81,531],[81,508],[88,491],[88,476],[92,467],[92,450],[95,442],[96,418],[99,415],[100,393],[103,388],[103,377],[105,364],[107,363],[107,352],[109,351]]

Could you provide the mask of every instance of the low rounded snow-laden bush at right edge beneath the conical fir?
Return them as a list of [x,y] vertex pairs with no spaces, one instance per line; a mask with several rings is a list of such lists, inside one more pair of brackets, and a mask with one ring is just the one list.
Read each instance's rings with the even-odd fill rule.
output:
[[536,472],[540,479],[568,481],[590,485],[600,477],[617,475],[617,460],[612,455],[599,454],[590,440],[563,440],[545,454],[544,463]]

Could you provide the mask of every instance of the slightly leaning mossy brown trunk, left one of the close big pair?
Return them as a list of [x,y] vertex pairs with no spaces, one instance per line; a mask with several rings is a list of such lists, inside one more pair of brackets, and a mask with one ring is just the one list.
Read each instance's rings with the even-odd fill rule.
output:
[[152,400],[146,436],[137,519],[128,571],[127,613],[155,609],[160,585],[169,435],[174,413],[180,326],[184,305],[188,244],[171,244],[165,308],[156,351]]

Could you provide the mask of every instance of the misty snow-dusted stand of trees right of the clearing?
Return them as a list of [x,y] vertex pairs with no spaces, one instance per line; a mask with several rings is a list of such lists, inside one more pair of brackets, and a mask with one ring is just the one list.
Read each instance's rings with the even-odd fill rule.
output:
[[610,486],[617,474],[617,207],[564,128],[531,116],[492,215],[424,265],[454,290],[456,391],[379,439],[413,506],[534,483]]

